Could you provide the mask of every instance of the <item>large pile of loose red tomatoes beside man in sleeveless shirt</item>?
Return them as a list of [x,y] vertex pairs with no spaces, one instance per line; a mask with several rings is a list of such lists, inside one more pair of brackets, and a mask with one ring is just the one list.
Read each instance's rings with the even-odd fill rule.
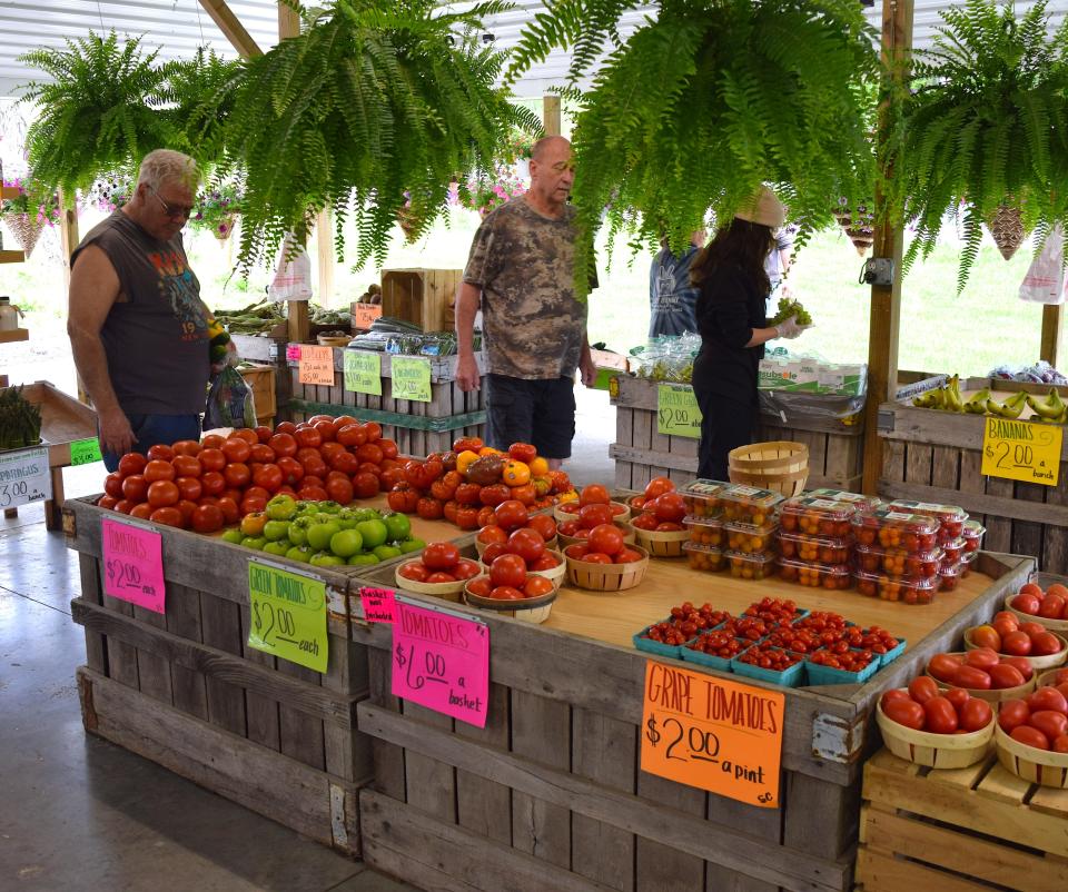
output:
[[375,422],[317,415],[299,425],[238,428],[199,443],[128,453],[105,478],[98,505],[167,526],[214,533],[265,508],[278,493],[347,505],[404,473],[397,445]]

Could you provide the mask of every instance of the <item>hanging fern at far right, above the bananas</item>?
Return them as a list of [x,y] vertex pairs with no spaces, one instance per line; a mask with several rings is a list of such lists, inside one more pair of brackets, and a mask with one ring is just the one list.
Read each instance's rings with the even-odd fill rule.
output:
[[889,143],[894,211],[914,227],[906,269],[927,258],[947,214],[962,227],[957,293],[982,224],[1001,205],[1045,236],[1068,210],[1068,21],[1048,34],[1046,2],[968,0],[942,12],[934,49],[917,52]]

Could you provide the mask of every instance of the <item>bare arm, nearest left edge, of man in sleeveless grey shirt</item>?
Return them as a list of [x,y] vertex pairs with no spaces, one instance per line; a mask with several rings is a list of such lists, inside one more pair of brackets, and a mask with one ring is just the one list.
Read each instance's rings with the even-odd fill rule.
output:
[[137,438],[115,396],[100,340],[100,329],[118,296],[119,277],[107,255],[93,245],[83,248],[70,271],[67,334],[75,367],[97,409],[100,448],[121,455],[134,447]]

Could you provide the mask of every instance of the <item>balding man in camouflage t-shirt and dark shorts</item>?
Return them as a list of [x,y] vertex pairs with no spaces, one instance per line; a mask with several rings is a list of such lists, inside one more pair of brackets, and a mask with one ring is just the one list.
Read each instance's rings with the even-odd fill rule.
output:
[[472,331],[482,308],[490,445],[532,443],[551,467],[571,456],[575,368],[587,387],[596,375],[586,305],[574,294],[575,209],[566,204],[573,181],[571,143],[538,140],[530,191],[486,215],[456,303],[464,390],[479,384]]

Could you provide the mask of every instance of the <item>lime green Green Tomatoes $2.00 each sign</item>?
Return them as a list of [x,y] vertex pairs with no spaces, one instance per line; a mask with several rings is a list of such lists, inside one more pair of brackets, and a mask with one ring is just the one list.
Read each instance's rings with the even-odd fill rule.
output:
[[326,584],[248,562],[248,646],[326,672]]

